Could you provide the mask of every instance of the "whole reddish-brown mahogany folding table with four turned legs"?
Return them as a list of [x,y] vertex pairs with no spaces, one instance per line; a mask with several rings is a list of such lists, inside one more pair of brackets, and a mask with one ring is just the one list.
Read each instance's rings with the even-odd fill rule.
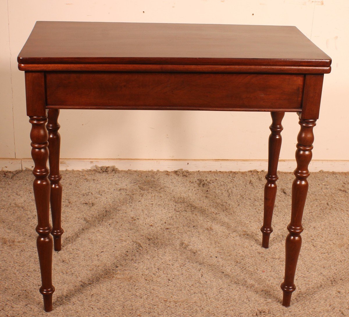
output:
[[32,124],[40,293],[45,311],[52,310],[54,292],[52,244],[55,251],[61,250],[63,233],[59,109],[270,112],[261,227],[264,248],[273,232],[281,121],[285,112],[296,112],[300,124],[297,167],[281,284],[282,304],[290,305],[302,244],[313,127],[319,117],[324,74],[331,71],[328,55],[296,27],[288,26],[39,21],[18,63],[25,71],[27,115]]

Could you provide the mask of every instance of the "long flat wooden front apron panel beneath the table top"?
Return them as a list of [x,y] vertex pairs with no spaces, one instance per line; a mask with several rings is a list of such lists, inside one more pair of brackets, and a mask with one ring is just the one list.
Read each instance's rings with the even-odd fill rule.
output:
[[47,106],[300,109],[304,75],[46,72]]

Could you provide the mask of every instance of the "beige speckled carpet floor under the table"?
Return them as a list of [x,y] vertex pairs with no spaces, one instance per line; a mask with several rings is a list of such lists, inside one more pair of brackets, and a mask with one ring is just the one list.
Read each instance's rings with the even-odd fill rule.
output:
[[1,316],[349,316],[349,174],[312,173],[291,307],[293,175],[261,248],[265,172],[62,172],[62,251],[43,312],[31,171],[0,179]]

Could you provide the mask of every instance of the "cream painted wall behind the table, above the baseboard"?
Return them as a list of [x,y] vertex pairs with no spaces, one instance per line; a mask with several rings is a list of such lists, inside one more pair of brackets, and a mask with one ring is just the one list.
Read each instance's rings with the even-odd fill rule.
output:
[[[296,25],[333,59],[313,157],[349,160],[347,0],[1,0],[0,158],[30,157],[17,55],[37,20]],[[266,159],[268,113],[61,110],[62,158]],[[297,115],[283,121],[281,159],[294,159]]]

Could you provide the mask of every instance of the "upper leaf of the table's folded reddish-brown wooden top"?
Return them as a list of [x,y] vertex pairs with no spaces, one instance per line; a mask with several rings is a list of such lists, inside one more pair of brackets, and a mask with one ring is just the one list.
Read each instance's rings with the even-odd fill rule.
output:
[[38,21],[20,64],[330,66],[292,26]]

